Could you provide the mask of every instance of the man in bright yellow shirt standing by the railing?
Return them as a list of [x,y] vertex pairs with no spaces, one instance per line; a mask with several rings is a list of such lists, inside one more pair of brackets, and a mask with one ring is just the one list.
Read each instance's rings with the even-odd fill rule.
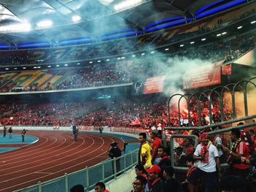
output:
[[139,162],[138,164],[142,164],[145,169],[148,169],[152,166],[151,164],[151,147],[146,142],[146,133],[139,134],[139,141],[140,141],[140,150],[139,150]]

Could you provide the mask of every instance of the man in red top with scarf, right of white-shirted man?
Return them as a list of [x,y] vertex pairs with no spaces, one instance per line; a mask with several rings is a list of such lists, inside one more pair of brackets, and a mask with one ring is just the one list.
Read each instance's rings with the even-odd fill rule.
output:
[[227,147],[222,147],[224,153],[227,153],[227,175],[237,175],[243,178],[249,174],[249,165],[242,164],[241,157],[249,158],[249,151],[246,147],[246,143],[241,139],[241,131],[238,128],[232,128],[230,133],[230,139],[233,142],[231,150]]

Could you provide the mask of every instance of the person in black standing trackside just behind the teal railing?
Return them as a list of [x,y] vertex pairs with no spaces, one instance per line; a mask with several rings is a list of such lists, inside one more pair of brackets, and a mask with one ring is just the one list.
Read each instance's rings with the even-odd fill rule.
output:
[[118,143],[117,142],[111,142],[110,143],[110,149],[108,150],[108,155],[110,156],[110,158],[113,159],[112,160],[113,174],[115,174],[115,162],[116,162],[116,172],[117,173],[120,172],[121,162],[120,162],[120,158],[119,157],[121,157],[121,150],[118,147]]

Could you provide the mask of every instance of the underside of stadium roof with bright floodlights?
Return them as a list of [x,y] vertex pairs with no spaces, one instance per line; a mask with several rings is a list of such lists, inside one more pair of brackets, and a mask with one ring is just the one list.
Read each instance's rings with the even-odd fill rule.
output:
[[[236,0],[237,5],[246,3]],[[124,29],[143,31],[167,18],[189,18],[230,0],[0,0],[0,43],[100,39]]]

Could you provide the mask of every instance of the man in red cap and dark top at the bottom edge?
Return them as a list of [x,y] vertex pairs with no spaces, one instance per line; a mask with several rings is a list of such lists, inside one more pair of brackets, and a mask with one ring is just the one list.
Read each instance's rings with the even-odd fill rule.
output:
[[163,184],[160,179],[161,168],[158,165],[153,165],[146,171],[148,172],[148,180],[151,183],[150,192],[163,192]]

